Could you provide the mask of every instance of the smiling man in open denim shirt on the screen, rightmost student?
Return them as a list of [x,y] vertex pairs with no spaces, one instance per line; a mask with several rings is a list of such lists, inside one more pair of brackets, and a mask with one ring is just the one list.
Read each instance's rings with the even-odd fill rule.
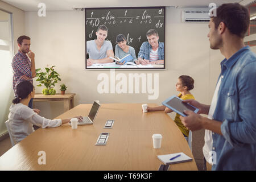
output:
[[159,42],[158,31],[147,31],[148,42],[143,42],[138,53],[138,61],[142,65],[164,64],[164,43]]

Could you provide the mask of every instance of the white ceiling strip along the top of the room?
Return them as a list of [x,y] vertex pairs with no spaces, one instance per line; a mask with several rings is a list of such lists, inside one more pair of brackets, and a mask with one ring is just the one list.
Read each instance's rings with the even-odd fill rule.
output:
[[[1,1],[1,0],[0,0]],[[83,7],[145,7],[145,6],[178,6],[208,7],[209,3],[241,2],[242,0],[2,0],[23,11],[38,11],[39,3],[46,5],[46,11],[64,11]],[[243,0],[249,1],[249,0]]]

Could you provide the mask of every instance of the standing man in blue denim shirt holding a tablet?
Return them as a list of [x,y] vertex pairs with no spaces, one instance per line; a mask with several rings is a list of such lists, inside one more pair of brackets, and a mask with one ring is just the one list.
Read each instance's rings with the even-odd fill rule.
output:
[[184,101],[208,118],[192,111],[180,117],[192,131],[206,129],[203,151],[212,170],[256,169],[256,56],[243,43],[249,19],[248,10],[238,3],[218,7],[208,38],[210,48],[220,49],[225,59],[212,104]]

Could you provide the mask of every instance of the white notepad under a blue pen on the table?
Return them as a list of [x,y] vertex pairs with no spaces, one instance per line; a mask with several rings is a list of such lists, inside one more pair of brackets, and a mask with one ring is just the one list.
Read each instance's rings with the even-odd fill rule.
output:
[[[179,154],[180,156],[178,158],[170,160]],[[185,155],[183,152],[176,154],[158,155],[158,159],[161,160],[164,164],[176,164],[192,161],[192,158],[189,158],[189,156]]]

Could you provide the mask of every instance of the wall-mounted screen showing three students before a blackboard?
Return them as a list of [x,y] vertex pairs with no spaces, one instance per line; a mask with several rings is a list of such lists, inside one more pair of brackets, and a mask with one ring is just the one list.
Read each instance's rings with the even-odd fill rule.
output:
[[164,69],[165,7],[85,8],[86,69]]

